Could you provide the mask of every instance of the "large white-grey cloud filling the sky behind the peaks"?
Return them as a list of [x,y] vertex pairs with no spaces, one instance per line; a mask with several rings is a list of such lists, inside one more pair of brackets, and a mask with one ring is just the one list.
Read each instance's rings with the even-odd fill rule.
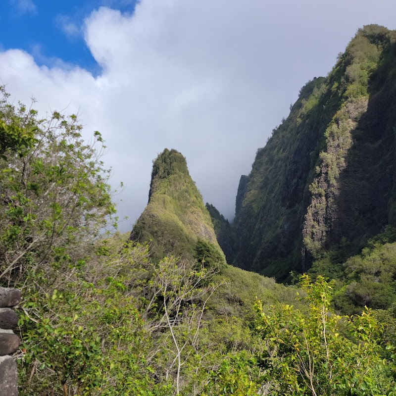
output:
[[84,27],[98,77],[8,50],[0,78],[17,99],[34,94],[41,111],[80,109],[85,133],[102,132],[112,182],[126,185],[126,229],[147,203],[151,161],[165,147],[187,157],[203,198],[232,216],[240,175],[299,88],[331,69],[358,27],[395,28],[396,3],[382,3],[386,13],[370,0],[143,0],[133,15],[99,8]]

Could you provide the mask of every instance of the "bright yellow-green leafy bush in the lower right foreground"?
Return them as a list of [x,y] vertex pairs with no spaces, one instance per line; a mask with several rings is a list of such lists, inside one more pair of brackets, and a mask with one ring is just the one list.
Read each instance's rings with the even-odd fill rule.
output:
[[[370,309],[353,317],[330,308],[332,283],[300,278],[307,312],[285,305],[270,315],[257,302],[260,366],[274,395],[384,395],[393,390]],[[369,358],[368,358],[369,356]],[[389,374],[389,373],[388,373]],[[381,381],[378,381],[381,378]]]

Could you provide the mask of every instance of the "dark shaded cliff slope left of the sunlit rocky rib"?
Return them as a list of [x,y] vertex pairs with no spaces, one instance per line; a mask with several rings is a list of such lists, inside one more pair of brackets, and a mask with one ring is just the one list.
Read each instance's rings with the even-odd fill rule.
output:
[[[315,154],[322,144],[326,121],[319,98],[325,87],[317,78],[301,90],[289,117],[257,150],[236,216],[235,264],[281,279],[298,261],[301,224],[308,205]],[[315,117],[313,116],[315,114]],[[244,181],[242,181],[244,182]]]

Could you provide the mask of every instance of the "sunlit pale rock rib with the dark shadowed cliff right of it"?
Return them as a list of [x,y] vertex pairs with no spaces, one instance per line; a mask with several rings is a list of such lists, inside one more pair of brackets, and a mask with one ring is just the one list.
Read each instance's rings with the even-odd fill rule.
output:
[[354,254],[387,224],[396,224],[394,35],[389,32],[389,42],[378,46],[367,95],[346,99],[326,130],[303,227],[308,264],[340,244]]

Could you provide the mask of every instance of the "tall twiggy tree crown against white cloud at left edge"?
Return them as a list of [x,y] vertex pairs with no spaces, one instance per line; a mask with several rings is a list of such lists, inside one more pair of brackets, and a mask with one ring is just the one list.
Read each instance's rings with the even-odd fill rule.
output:
[[78,265],[115,213],[99,132],[81,137],[76,115],[48,119],[0,100],[0,282],[22,279],[50,263]]

